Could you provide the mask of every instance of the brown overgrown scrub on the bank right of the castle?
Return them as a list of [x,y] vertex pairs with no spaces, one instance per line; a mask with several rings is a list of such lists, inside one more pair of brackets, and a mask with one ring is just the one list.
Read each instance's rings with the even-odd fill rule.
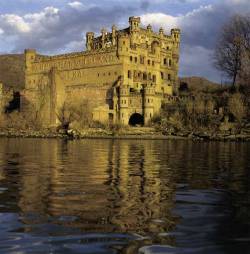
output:
[[165,134],[239,134],[249,122],[249,105],[241,93],[197,93],[162,105],[153,123]]

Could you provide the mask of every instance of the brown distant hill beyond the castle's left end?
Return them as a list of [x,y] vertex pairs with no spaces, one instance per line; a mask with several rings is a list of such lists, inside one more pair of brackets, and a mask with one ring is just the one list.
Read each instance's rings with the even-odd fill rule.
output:
[[0,82],[15,90],[24,88],[24,55],[0,55]]

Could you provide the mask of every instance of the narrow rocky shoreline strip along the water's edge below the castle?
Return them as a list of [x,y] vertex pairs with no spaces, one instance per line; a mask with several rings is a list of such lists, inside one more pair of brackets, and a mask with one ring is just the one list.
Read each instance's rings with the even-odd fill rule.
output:
[[138,140],[194,140],[194,141],[250,141],[250,134],[229,134],[229,133],[164,133],[150,127],[127,128],[124,130],[112,131],[101,128],[89,128],[81,132],[68,130],[57,132],[45,130],[0,130],[0,137],[9,138],[58,138],[58,139],[138,139]]

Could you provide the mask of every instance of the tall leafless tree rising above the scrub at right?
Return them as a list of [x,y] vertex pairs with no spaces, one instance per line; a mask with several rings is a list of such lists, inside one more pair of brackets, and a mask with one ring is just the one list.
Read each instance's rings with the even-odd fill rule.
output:
[[249,39],[249,16],[235,15],[222,27],[215,48],[215,66],[232,78],[233,86],[242,71],[243,57],[249,52]]

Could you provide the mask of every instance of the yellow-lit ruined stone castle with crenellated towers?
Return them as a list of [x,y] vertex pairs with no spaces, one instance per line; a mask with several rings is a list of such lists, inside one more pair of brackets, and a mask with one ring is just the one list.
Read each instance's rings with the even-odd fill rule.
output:
[[179,29],[155,33],[130,17],[125,29],[88,32],[83,52],[43,56],[27,49],[21,108],[32,105],[53,126],[66,100],[88,100],[94,121],[147,125],[174,93],[179,47]]

